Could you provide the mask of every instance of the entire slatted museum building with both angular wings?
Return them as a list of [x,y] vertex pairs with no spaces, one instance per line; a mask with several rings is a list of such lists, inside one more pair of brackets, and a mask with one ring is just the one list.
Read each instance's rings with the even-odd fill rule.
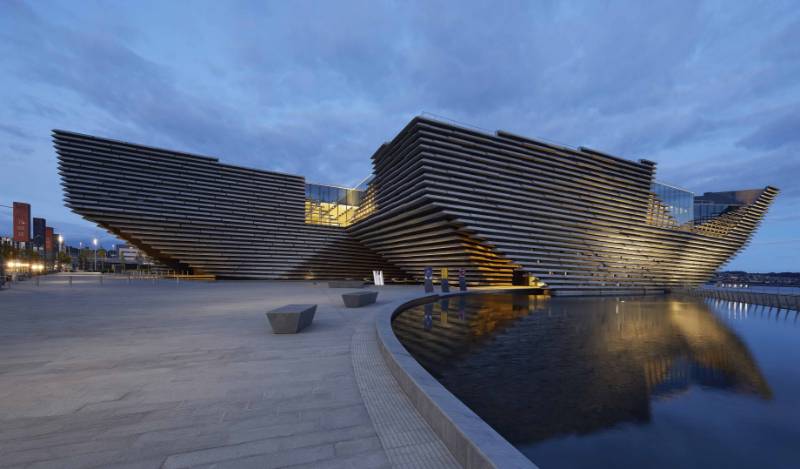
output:
[[[54,131],[66,203],[161,262],[223,278],[420,280],[554,293],[706,281],[742,249],[777,189],[734,197],[655,181],[655,163],[417,117],[359,188]],[[733,197],[733,196],[731,196]],[[727,204],[699,218],[707,200]]]

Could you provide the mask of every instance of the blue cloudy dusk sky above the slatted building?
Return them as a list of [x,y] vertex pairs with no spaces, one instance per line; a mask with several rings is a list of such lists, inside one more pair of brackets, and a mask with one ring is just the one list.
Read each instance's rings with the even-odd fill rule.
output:
[[2,0],[0,205],[112,242],[63,206],[54,128],[354,185],[430,113],[776,186],[725,268],[800,271],[800,4],[657,3]]

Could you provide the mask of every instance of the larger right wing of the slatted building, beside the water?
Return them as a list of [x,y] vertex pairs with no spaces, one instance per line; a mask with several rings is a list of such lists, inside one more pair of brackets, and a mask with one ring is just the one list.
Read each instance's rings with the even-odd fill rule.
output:
[[349,228],[361,242],[416,277],[427,265],[463,266],[473,282],[508,284],[522,271],[562,293],[704,282],[745,246],[777,194],[758,190],[694,224],[691,195],[661,200],[669,191],[653,162],[426,118],[373,163],[375,213]]

